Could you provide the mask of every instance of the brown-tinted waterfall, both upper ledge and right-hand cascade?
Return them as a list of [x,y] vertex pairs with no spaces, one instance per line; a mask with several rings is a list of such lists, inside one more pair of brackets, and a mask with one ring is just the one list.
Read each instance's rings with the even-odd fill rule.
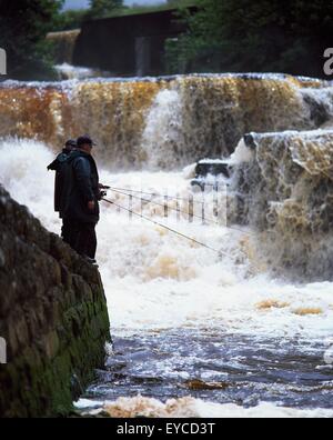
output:
[[58,151],[90,133],[109,171],[180,170],[234,152],[230,221],[264,234],[260,253],[275,270],[332,278],[331,83],[269,74],[4,82],[0,99],[0,137]]

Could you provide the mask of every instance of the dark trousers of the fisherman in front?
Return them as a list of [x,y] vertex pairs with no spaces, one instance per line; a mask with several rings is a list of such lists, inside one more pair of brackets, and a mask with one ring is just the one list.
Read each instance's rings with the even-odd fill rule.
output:
[[69,244],[81,256],[95,258],[97,236],[95,223],[69,222]]

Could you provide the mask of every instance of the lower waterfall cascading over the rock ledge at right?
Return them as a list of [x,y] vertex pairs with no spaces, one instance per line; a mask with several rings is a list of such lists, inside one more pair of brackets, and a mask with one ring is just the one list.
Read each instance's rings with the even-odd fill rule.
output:
[[[244,151],[248,150],[248,154]],[[241,222],[275,272],[332,279],[333,131],[252,133],[233,156]]]

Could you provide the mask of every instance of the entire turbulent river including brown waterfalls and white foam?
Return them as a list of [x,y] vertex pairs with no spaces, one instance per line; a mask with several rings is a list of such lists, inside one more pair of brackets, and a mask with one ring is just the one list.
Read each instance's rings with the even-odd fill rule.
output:
[[[193,77],[121,87],[108,81],[2,84],[1,183],[59,232],[47,164],[65,133],[89,131],[99,141],[101,181],[124,193],[133,193],[143,202],[121,192],[109,192],[111,200],[221,253],[101,204],[98,262],[113,346],[78,407],[107,406],[121,417],[333,417],[331,217],[322,208],[323,226],[317,226],[315,213],[307,216],[309,207],[313,212],[316,207],[312,194],[321,207],[330,204],[324,146],[332,142],[333,88],[275,77]],[[10,112],[14,106],[19,110]],[[280,134],[253,134],[254,153],[239,142],[250,131]],[[192,194],[191,170],[183,167],[208,156],[226,158],[235,148],[235,176],[224,183],[229,199],[242,193],[242,209],[233,208],[226,227],[214,211],[215,194],[209,193],[202,221],[203,198]],[[305,160],[315,151],[316,172]],[[194,217],[186,201],[192,196]],[[304,226],[302,216],[315,227]],[[311,253],[306,263],[304,249]]]

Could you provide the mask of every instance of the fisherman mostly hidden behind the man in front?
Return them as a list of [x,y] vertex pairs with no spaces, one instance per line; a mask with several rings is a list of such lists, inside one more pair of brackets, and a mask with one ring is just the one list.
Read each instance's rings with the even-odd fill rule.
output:
[[62,152],[57,156],[56,160],[49,164],[48,170],[56,171],[54,179],[54,211],[59,212],[59,217],[62,219],[62,228],[61,228],[61,237],[63,241],[67,243],[70,242],[70,224],[65,219],[63,219],[62,211],[62,201],[64,196],[64,177],[63,177],[63,164],[67,161],[70,152],[77,147],[77,141],[73,139],[69,139]]

